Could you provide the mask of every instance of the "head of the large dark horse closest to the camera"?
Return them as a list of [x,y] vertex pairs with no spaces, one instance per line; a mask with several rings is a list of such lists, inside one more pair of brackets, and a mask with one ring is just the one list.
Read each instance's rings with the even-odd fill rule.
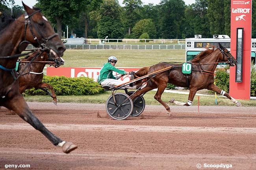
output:
[[[39,9],[31,9],[23,2],[25,9],[25,46],[30,42],[35,47],[41,47],[51,55],[63,56],[66,50],[62,41],[59,39],[45,16],[42,15]],[[22,43],[21,43],[22,44]]]

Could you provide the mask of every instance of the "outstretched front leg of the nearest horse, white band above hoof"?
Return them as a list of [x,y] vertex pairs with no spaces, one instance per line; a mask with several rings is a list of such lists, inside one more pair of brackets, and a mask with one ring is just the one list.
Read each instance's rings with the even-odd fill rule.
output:
[[24,121],[31,124],[36,130],[39,130],[45,137],[52,142],[55,146],[62,147],[63,152],[68,154],[72,150],[75,150],[77,148],[76,145],[65,142],[56,137],[52,132],[50,132],[46,127],[33,115],[30,108],[28,107],[28,104],[25,102],[24,98],[20,93],[17,93],[14,95],[10,101],[5,102],[3,105],[13,110],[17,115],[19,115]]

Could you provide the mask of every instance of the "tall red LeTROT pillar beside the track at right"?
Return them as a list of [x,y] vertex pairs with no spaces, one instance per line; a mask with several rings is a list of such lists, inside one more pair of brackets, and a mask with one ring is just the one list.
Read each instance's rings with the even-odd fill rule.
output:
[[237,28],[243,29],[243,48],[241,82],[236,82],[236,66],[230,67],[229,94],[235,99],[250,100],[252,0],[231,0],[230,18],[230,52],[237,59]]

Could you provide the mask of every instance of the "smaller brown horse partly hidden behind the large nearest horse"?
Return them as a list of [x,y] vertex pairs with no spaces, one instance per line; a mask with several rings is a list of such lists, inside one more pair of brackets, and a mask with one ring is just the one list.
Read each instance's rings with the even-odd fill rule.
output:
[[[19,91],[22,94],[25,90],[36,88],[45,91],[48,95],[53,98],[53,103],[57,105],[57,97],[52,86],[43,81],[43,69],[46,64],[50,64],[55,68],[64,64],[64,60],[61,57],[51,57],[46,52],[43,52],[42,55],[38,56],[29,64],[33,57],[40,54],[41,51],[35,51],[26,58],[19,60],[19,69],[17,73],[19,77]],[[29,65],[28,65],[29,64]],[[27,67],[27,68],[26,68]],[[26,69],[25,69],[26,68]],[[25,69],[25,70],[24,70]],[[50,91],[48,91],[49,89]]]

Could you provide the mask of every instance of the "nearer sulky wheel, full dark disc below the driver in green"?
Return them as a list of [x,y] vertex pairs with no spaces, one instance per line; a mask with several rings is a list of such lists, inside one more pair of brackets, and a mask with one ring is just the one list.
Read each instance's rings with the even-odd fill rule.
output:
[[134,108],[132,99],[124,93],[115,93],[114,95],[117,104],[111,95],[106,102],[107,113],[112,119],[124,120],[131,115]]

